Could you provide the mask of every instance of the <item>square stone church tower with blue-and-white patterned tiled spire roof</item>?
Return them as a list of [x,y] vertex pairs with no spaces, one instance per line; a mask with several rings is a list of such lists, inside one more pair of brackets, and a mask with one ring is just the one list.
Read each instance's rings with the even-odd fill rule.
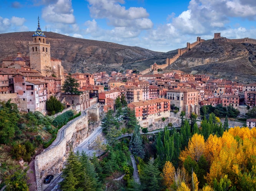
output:
[[51,52],[50,43],[46,44],[46,36],[40,28],[38,16],[38,28],[33,37],[33,42],[29,45],[30,67],[38,70],[44,76],[51,76]]

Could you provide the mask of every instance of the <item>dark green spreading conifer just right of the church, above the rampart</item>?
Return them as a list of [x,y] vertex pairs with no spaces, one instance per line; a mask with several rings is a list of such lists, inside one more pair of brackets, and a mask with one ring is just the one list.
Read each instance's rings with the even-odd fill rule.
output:
[[69,76],[66,76],[66,80],[64,81],[62,90],[65,93],[80,94],[81,92],[78,90],[79,87],[80,87],[80,84],[78,83],[78,80],[75,78],[72,78],[72,76],[69,75]]

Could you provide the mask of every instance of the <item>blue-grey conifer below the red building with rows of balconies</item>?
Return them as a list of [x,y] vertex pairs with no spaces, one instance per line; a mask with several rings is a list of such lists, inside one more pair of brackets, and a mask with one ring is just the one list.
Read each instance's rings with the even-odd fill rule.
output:
[[132,149],[132,153],[143,158],[145,155],[144,147],[142,144],[142,138],[140,136],[140,126],[136,125],[134,128],[134,133],[132,135],[132,139],[130,141],[130,148]]

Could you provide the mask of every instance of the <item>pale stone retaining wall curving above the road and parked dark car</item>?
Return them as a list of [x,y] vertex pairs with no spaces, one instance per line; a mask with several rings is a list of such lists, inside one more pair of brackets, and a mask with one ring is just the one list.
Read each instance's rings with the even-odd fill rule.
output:
[[57,138],[45,151],[35,158],[36,184],[41,191],[43,178],[48,174],[61,172],[68,152],[74,149],[89,135],[88,115],[85,111],[81,116],[69,121],[58,131]]

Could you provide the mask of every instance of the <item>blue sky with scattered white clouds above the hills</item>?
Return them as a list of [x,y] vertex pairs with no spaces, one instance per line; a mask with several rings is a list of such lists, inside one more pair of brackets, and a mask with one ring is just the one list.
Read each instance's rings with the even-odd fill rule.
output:
[[[256,0],[1,0],[0,34],[57,32],[158,52],[212,39],[256,39]],[[46,36],[47,37],[47,36]]]

